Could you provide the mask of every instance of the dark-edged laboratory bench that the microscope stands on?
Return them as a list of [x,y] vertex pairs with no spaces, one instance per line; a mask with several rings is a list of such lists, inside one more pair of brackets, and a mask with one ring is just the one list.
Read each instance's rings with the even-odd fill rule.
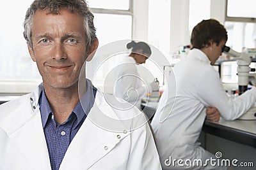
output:
[[[145,115],[152,117],[158,103],[141,103]],[[152,118],[149,119],[149,121]],[[200,138],[201,146],[211,153],[221,152],[223,159],[237,159],[239,162],[253,162],[256,167],[256,120],[234,120],[219,122],[205,120]],[[228,170],[240,170],[241,167],[228,167]]]

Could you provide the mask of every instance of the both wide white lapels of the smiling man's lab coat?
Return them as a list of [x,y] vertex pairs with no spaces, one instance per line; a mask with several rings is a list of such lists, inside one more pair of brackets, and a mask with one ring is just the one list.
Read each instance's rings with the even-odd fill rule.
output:
[[[38,104],[42,90],[43,86],[41,84],[31,94],[17,99],[14,103],[17,104],[17,108],[0,120],[0,126],[12,140],[13,145],[17,146],[17,152],[21,152],[26,157],[28,165],[31,165],[34,169],[51,169]],[[93,105],[88,118],[70,143],[60,170],[76,169],[74,167],[89,169],[111,152],[122,139],[131,134],[129,127],[125,127],[122,121],[120,121],[120,126],[123,127],[123,132],[107,131],[107,129],[95,124],[91,116],[97,115],[99,109],[106,111],[111,117],[116,115],[100,92],[97,92],[95,96],[95,103],[97,104]],[[13,105],[8,104],[8,106]],[[98,116],[95,117],[100,119]],[[103,123],[109,124],[109,122]]]

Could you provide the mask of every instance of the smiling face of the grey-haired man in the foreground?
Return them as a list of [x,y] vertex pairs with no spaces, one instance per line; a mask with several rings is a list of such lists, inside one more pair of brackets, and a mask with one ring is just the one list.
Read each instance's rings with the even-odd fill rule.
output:
[[60,10],[47,14],[38,10],[33,18],[32,45],[29,53],[36,62],[44,85],[63,89],[78,82],[88,54],[83,18],[77,13]]

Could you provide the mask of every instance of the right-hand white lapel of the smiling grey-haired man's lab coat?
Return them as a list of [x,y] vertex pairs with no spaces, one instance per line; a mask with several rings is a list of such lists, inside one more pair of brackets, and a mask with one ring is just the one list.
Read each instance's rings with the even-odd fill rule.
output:
[[[97,98],[99,99],[99,95],[96,96],[95,103]],[[100,119],[98,106],[98,104],[93,105],[88,117],[68,146],[60,170],[81,169],[81,167],[89,169],[93,164],[111,152],[117,143],[130,134],[130,132],[111,132],[95,124],[93,118],[97,117]],[[99,107],[102,110],[113,112],[109,106],[106,106],[106,103],[100,103]],[[120,125],[122,125],[121,122]],[[124,125],[122,126],[124,127]]]

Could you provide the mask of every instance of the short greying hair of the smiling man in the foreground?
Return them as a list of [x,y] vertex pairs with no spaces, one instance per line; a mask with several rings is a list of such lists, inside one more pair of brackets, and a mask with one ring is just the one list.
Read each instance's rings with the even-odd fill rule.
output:
[[97,38],[93,24],[93,14],[85,0],[35,0],[28,8],[24,20],[24,38],[29,46],[32,46],[33,17],[37,10],[47,10],[49,14],[59,14],[61,9],[67,9],[71,13],[77,13],[84,18],[84,31],[88,40],[87,48]]

